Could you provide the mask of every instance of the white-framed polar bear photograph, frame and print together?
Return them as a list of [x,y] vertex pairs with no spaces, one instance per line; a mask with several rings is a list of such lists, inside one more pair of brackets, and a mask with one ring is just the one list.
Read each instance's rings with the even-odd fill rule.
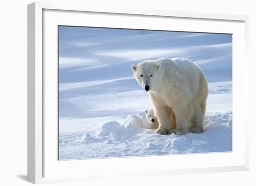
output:
[[248,20],[28,5],[28,181],[248,170]]

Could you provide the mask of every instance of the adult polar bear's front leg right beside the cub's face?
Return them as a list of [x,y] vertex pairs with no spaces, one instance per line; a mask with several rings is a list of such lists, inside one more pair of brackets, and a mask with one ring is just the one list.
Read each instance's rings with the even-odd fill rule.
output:
[[169,115],[168,111],[161,106],[155,106],[155,114],[158,118],[159,127],[155,129],[155,133],[160,135],[169,135]]

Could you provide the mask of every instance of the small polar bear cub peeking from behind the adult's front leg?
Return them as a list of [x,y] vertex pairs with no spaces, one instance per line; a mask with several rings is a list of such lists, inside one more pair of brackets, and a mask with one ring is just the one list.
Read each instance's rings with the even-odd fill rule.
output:
[[[155,114],[154,109],[145,110],[145,115],[146,115],[146,119],[148,121],[150,129],[156,129],[159,127],[158,118]],[[170,128],[171,128],[171,130],[174,130],[176,128],[176,119],[175,119],[174,112],[171,112],[170,117],[171,117],[170,120],[171,120],[171,124],[172,124],[170,126]]]

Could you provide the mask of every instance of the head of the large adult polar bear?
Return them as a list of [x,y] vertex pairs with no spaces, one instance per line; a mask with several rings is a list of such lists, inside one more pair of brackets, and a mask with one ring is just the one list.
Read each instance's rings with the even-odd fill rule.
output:
[[153,60],[147,60],[137,65],[132,65],[135,79],[146,91],[151,90],[152,87],[155,86],[160,68],[161,64]]

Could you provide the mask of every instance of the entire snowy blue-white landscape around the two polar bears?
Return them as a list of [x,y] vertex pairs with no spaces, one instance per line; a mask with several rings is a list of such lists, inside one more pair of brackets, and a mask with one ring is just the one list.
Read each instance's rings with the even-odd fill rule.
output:
[[[159,135],[131,64],[185,57],[209,83],[205,132]],[[232,35],[59,27],[59,159],[232,151]]]

